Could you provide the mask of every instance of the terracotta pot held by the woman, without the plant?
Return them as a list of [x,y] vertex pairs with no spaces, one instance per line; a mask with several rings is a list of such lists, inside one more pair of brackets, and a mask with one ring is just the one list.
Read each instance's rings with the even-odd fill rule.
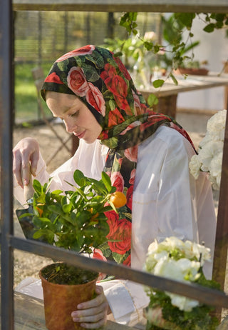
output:
[[86,284],[53,284],[42,276],[42,272],[52,265],[43,267],[39,272],[46,327],[48,330],[84,330],[79,323],[73,322],[71,312],[75,311],[81,302],[93,299],[97,277]]

